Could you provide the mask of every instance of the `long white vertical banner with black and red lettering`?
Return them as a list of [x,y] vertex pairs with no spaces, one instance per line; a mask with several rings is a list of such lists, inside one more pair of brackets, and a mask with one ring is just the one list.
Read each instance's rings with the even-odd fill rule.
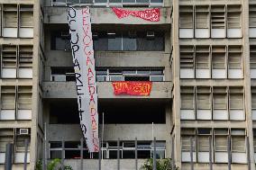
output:
[[89,152],[98,152],[96,70],[89,7],[68,11],[78,112]]

